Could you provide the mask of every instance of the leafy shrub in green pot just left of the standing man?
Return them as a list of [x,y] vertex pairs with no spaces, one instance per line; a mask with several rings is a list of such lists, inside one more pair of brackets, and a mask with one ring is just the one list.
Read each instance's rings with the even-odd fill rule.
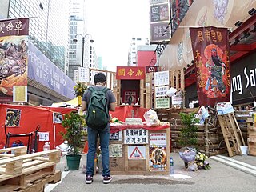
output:
[[83,127],[86,126],[85,116],[77,112],[70,112],[64,115],[62,126],[65,131],[60,132],[62,139],[68,142],[70,146],[70,154],[66,155],[66,162],[69,170],[78,170],[81,159],[81,150],[84,142],[82,136],[85,131]]

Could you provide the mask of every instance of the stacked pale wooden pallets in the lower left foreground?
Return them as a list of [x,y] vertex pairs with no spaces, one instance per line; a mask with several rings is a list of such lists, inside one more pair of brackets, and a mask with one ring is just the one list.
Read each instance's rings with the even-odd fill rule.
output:
[[0,191],[43,191],[46,183],[60,181],[61,172],[55,170],[60,150],[17,152],[22,150],[26,151],[26,146],[0,150],[0,153],[14,151],[14,154],[0,154]]

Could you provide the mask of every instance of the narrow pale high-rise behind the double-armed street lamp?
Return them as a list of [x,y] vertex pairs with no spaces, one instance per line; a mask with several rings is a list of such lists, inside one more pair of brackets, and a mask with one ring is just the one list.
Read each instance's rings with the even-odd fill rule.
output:
[[[71,0],[68,75],[73,80],[79,79],[79,74],[77,74],[78,67],[98,68],[98,58],[92,41],[94,39],[92,35],[87,32],[86,21],[86,1]],[[74,42],[74,39],[77,41]]]

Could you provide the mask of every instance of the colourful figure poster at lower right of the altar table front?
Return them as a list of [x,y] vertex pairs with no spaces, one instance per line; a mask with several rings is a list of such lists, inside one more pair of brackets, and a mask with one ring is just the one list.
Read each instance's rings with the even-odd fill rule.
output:
[[150,171],[167,169],[166,147],[150,147]]

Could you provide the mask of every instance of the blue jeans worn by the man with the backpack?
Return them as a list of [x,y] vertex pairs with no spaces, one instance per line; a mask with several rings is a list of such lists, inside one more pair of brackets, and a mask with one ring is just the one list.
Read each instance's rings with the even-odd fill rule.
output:
[[94,130],[90,127],[87,128],[88,138],[88,153],[87,153],[87,165],[86,175],[94,175],[94,158],[97,148],[97,138],[99,134],[100,146],[102,151],[102,176],[110,175],[110,124],[108,124],[104,130]]

